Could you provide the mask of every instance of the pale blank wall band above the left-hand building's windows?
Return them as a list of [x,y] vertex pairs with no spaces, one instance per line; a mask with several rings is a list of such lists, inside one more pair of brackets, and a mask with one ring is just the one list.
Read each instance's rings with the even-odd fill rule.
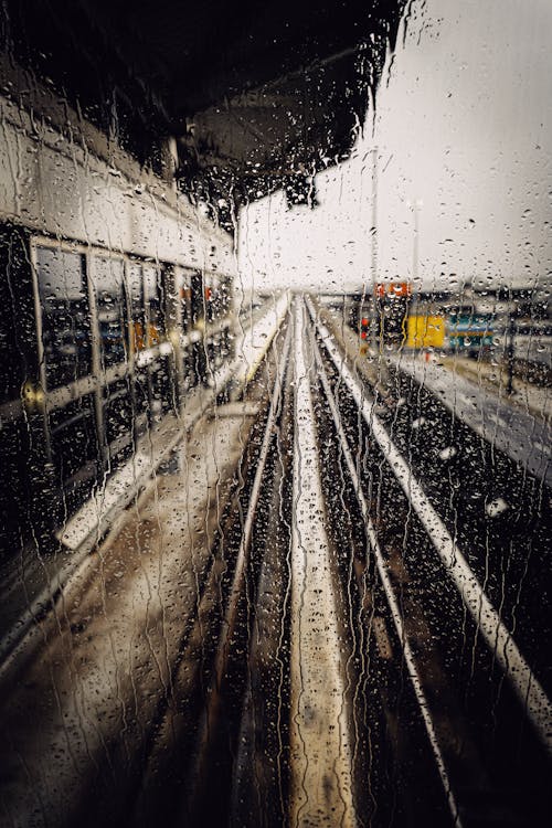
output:
[[7,219],[42,233],[235,275],[232,237],[184,197],[147,171],[140,179],[110,166],[88,150],[77,129],[60,131],[0,97],[0,220]]

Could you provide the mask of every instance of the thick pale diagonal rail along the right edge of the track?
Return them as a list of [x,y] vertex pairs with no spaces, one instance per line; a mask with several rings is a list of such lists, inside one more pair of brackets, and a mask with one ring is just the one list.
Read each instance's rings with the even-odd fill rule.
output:
[[340,372],[341,379],[361,410],[364,421],[378,440],[385,459],[412,503],[440,560],[447,567],[478,629],[506,672],[520,702],[526,707],[528,715],[542,743],[552,753],[552,704],[546,693],[481,588],[463,552],[433,508],[421,484],[414,477],[412,469],[403,459],[383,424],[374,413],[373,404],[364,396],[361,385],[347,367],[344,358],[335,344],[329,330],[317,319],[310,300],[307,300],[307,302],[325,347]]

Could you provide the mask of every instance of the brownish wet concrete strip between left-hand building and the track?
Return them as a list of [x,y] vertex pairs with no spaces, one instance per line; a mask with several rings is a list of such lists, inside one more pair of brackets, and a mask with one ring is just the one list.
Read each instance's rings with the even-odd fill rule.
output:
[[264,333],[243,399],[205,414],[6,665],[1,825],[170,824],[183,808],[280,349]]

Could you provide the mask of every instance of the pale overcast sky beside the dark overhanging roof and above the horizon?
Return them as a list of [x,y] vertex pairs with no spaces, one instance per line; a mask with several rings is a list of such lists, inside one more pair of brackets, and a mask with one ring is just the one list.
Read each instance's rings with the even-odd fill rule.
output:
[[320,206],[283,193],[244,209],[244,283],[342,290],[371,282],[378,149],[379,278],[424,287],[545,282],[552,270],[552,0],[413,4],[404,46],[351,159],[317,177]]

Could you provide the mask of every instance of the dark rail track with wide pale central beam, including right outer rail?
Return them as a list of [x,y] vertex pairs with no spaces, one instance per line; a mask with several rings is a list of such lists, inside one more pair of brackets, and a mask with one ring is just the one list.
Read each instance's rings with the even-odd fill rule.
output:
[[300,299],[293,338],[190,824],[544,824],[542,686]]

